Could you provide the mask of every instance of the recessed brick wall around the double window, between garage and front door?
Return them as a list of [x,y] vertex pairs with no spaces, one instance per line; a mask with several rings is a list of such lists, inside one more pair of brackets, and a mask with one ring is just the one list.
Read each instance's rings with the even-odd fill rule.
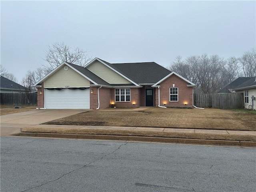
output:
[[[130,88],[130,102],[115,102],[115,88],[110,90],[111,101],[116,107],[139,107],[141,106],[141,88]],[[142,96],[143,97],[143,96]]]

